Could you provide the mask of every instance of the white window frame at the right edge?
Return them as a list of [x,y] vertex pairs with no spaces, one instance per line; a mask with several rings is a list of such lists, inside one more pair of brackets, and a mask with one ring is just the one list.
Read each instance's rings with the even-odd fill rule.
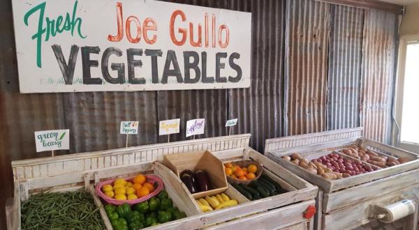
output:
[[404,79],[406,69],[406,49],[408,44],[419,44],[419,34],[411,36],[401,36],[399,40],[399,61],[397,64],[397,85],[395,98],[395,120],[396,124],[393,127],[393,145],[398,148],[406,149],[414,153],[419,153],[419,144],[402,141],[400,139],[402,134],[402,113],[403,113],[403,93],[404,93]]

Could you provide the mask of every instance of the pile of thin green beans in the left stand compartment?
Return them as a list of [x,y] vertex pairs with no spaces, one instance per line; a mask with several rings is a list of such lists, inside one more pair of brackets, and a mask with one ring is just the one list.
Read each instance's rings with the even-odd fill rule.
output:
[[44,192],[22,203],[22,229],[105,229],[99,208],[84,190]]

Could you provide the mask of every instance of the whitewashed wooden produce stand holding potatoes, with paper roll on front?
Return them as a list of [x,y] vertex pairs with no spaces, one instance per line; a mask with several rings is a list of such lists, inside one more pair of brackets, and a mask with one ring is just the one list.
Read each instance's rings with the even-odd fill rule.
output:
[[[267,139],[265,155],[282,167],[319,187],[316,204],[315,229],[353,229],[378,220],[380,207],[409,199],[416,207],[404,217],[404,229],[417,229],[419,204],[418,156],[399,148],[380,144],[362,137],[362,128],[317,132]],[[363,147],[392,158],[408,158],[409,162],[385,167],[365,174],[330,180],[313,174],[286,160],[286,155],[299,153],[308,160],[334,152],[348,157],[344,148]],[[348,157],[351,158],[351,157]],[[355,159],[355,158],[354,158]],[[368,164],[364,162],[364,164]],[[381,216],[382,217],[382,216]]]

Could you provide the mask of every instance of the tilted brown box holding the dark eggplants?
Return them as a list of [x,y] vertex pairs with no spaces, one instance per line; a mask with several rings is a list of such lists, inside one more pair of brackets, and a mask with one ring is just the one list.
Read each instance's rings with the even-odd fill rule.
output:
[[205,196],[213,196],[228,189],[223,162],[212,155],[210,151],[165,155],[163,164],[174,171],[177,176],[180,176],[180,173],[182,173],[185,169],[189,169],[193,172],[201,169],[207,172],[208,180],[210,181],[210,190],[192,194],[194,199],[199,199]]

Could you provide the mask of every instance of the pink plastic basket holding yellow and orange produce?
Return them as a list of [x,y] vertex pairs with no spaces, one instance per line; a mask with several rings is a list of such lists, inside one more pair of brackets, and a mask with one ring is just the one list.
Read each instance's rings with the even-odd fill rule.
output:
[[[133,182],[132,179],[134,177],[135,176],[131,176],[131,177],[125,178],[125,180],[126,181],[131,181],[131,183],[132,183]],[[153,192],[150,192],[150,194],[148,194],[147,196],[140,197],[138,199],[131,199],[131,200],[126,200],[126,201],[119,201],[117,199],[113,199],[113,198],[108,197],[106,194],[104,194],[102,192],[102,187],[104,185],[112,185],[112,183],[114,183],[114,181],[117,178],[110,179],[108,181],[102,181],[101,183],[98,183],[96,185],[96,187],[95,187],[95,190],[96,190],[96,193],[99,195],[99,197],[101,197],[108,204],[114,204],[114,205],[121,205],[121,204],[130,204],[130,205],[132,205],[132,204],[138,204],[138,203],[141,203],[142,201],[147,201],[148,199],[156,196],[156,194],[159,194],[159,192],[161,190],[163,190],[163,187],[164,187],[164,183],[161,180],[161,178],[159,178],[159,176],[155,176],[155,175],[152,175],[152,174],[147,174],[147,175],[145,175],[145,178],[147,179],[148,182],[150,182],[152,184],[154,184],[154,182],[156,182],[157,183],[157,187],[156,187],[156,189]]]

